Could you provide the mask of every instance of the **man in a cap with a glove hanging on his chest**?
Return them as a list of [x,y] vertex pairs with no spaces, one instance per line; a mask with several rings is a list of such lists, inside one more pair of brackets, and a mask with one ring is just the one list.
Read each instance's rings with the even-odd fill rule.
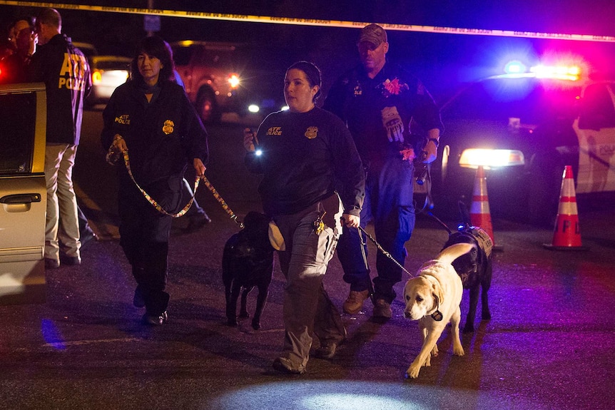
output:
[[[423,163],[436,159],[442,123],[425,86],[387,62],[389,43],[381,26],[365,26],[357,48],[361,63],[337,80],[322,108],[345,121],[367,171],[361,226],[373,220],[378,242],[403,265],[405,243],[415,226],[412,160],[420,157],[421,151],[425,151]],[[427,142],[418,144],[415,134],[424,136]],[[344,280],[350,284],[350,294],[343,304],[346,313],[359,312],[369,297],[366,252],[365,237],[361,238],[356,229],[345,228],[337,255]],[[373,317],[392,316],[391,302],[396,296],[393,286],[402,280],[402,269],[395,261],[382,252],[376,256]]]

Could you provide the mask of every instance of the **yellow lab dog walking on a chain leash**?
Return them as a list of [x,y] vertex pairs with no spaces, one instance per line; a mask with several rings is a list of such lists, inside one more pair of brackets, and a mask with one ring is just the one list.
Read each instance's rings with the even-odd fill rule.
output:
[[430,366],[431,356],[437,356],[437,341],[450,322],[453,337],[453,354],[463,356],[464,350],[459,339],[462,280],[451,262],[472,250],[474,245],[459,243],[442,250],[434,260],[425,262],[417,272],[418,276],[406,283],[404,317],[419,321],[423,346],[419,355],[406,371],[406,376],[416,379],[422,366]]

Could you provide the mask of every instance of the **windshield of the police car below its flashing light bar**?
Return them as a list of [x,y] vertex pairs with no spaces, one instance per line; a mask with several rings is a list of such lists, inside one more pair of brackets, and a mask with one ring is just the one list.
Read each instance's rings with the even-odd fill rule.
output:
[[492,78],[474,83],[446,106],[447,118],[500,121],[520,118],[537,124],[547,119],[573,118],[579,86],[534,78]]

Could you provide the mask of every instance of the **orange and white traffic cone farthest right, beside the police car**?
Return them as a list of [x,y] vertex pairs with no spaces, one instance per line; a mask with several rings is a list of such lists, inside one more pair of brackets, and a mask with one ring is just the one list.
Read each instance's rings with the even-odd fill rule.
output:
[[576,210],[576,193],[574,192],[574,176],[571,165],[566,165],[561,178],[559,191],[559,207],[553,230],[551,244],[542,246],[549,250],[588,250],[581,245],[581,230],[579,229],[579,212]]

